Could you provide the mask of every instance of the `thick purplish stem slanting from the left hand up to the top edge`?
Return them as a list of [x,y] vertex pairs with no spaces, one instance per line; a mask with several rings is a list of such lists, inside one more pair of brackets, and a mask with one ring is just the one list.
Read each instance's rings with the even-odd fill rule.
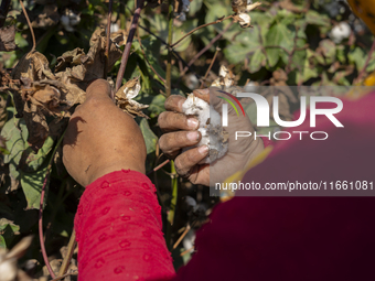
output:
[[122,53],[120,69],[118,71],[118,74],[117,74],[115,94],[118,91],[118,89],[121,87],[121,84],[122,84],[122,77],[124,77],[125,69],[126,69],[127,64],[128,64],[128,58],[129,58],[129,55],[130,55],[130,48],[131,48],[132,40],[135,39],[135,34],[136,34],[136,31],[137,31],[137,26],[138,26],[138,22],[139,22],[139,18],[140,18],[140,12],[143,8],[143,3],[144,3],[144,0],[138,0],[137,1],[137,9],[135,11],[135,15],[132,17],[132,22],[131,22],[131,25],[130,25],[130,31],[129,31],[127,44],[125,45],[125,50],[124,50],[124,53]]

